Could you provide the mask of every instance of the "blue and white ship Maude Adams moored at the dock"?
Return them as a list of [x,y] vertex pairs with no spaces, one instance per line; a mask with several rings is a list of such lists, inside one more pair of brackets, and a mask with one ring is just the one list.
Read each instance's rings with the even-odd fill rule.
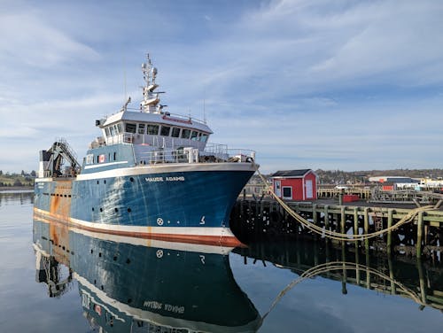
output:
[[140,105],[129,97],[96,120],[101,136],[82,163],[66,139],[40,151],[34,213],[113,235],[241,245],[229,213],[259,167],[255,151],[209,143],[206,120],[167,112],[149,54],[142,73]]

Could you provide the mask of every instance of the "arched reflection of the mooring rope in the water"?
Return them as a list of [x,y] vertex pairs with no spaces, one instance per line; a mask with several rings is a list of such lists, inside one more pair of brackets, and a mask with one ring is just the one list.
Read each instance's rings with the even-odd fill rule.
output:
[[[299,275],[299,277],[295,280],[293,280],[291,283],[289,283],[284,290],[280,291],[280,293],[277,295],[276,299],[272,303],[272,305],[269,307],[269,310],[266,314],[264,314],[261,318],[262,321],[265,320],[265,318],[268,316],[268,314],[276,307],[277,303],[286,295],[286,293],[291,290],[293,287],[295,287],[297,284],[302,283],[303,281],[313,278],[315,275],[321,275],[330,271],[334,270],[364,270],[368,274],[376,275],[381,277],[382,279],[389,281],[393,284],[395,284],[399,290],[401,290],[405,295],[408,295],[409,298],[414,300],[417,304],[420,306],[429,306],[429,304],[424,303],[424,301],[412,290],[408,289],[408,287],[404,286],[402,283],[399,283],[392,279],[390,276],[387,276],[379,271],[377,269],[367,267],[364,265],[356,264],[354,262],[346,262],[346,261],[332,261],[327,262],[325,264],[321,264],[315,267],[311,267],[307,269],[307,271],[303,272],[302,275]],[[440,305],[432,305],[432,307],[443,309],[443,306]]]

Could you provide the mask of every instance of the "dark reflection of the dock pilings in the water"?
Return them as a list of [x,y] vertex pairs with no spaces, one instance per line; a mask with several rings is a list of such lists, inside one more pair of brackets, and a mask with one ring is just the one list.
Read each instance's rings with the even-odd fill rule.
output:
[[[341,281],[343,294],[347,294],[346,284],[353,284],[410,298],[420,309],[431,306],[443,311],[443,269],[439,265],[411,258],[396,260],[385,255],[360,255],[351,250],[354,249],[341,244],[298,240],[251,243],[248,248],[237,248],[234,252],[244,256],[245,265],[260,262],[266,265],[268,261],[298,275],[277,295],[273,306],[307,278],[322,276]],[[263,320],[266,316],[262,316]]]

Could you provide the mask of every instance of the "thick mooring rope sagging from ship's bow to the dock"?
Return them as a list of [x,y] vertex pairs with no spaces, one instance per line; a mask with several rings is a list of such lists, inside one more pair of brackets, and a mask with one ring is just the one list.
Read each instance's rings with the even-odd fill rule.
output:
[[263,176],[263,174],[260,173],[260,170],[257,169],[257,174],[259,174],[261,181],[265,184],[266,187],[268,187],[268,190],[270,191],[270,193],[272,194],[272,196],[276,199],[276,201],[284,208],[284,210],[289,213],[294,219],[295,221],[298,221],[302,226],[314,231],[316,234],[320,235],[320,236],[328,236],[331,239],[335,239],[338,241],[352,241],[352,242],[358,242],[358,241],[363,241],[369,238],[373,238],[376,236],[380,236],[385,234],[388,231],[392,231],[395,230],[397,228],[400,228],[402,225],[410,223],[412,221],[414,221],[416,219],[416,216],[418,215],[418,213],[421,212],[428,212],[428,211],[432,211],[437,209],[436,206],[433,205],[425,205],[423,207],[418,207],[416,209],[411,210],[407,215],[405,215],[400,221],[398,221],[396,224],[392,225],[389,228],[385,228],[382,230],[378,230],[376,232],[372,232],[369,234],[364,234],[364,235],[347,235],[347,234],[343,234],[343,233],[339,233],[336,231],[332,231],[320,226],[315,225],[313,222],[307,221],[306,219],[304,219],[302,216],[300,216],[298,213],[295,213],[291,207],[289,205],[287,205],[280,197],[277,197],[276,193],[274,192],[274,190],[272,190],[272,188],[268,185],[267,180],[265,179],[265,177]]

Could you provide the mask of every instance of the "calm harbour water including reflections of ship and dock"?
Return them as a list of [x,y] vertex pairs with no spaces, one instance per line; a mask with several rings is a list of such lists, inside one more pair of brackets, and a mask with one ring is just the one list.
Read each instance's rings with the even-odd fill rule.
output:
[[[0,193],[2,332],[443,331],[439,263],[363,255],[356,271],[354,252],[324,244],[115,238],[34,221],[32,200]],[[326,261],[348,269],[298,280]]]

